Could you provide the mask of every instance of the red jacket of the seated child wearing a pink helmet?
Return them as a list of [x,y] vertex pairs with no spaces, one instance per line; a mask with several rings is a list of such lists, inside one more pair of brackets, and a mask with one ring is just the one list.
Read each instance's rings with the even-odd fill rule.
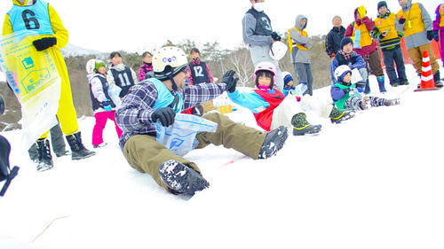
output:
[[274,93],[270,93],[268,91],[263,91],[260,89],[255,89],[254,91],[270,104],[270,106],[268,106],[266,110],[260,113],[253,113],[258,126],[269,131],[272,126],[274,108],[276,108],[278,105],[281,105],[281,102],[283,101],[285,96],[278,89],[274,89]]

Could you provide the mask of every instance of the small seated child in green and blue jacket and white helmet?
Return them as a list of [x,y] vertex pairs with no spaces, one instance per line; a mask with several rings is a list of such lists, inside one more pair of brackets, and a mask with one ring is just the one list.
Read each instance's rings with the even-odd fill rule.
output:
[[339,110],[366,110],[370,106],[399,105],[400,99],[385,99],[381,97],[362,97],[352,83],[352,70],[349,66],[338,66],[335,70],[337,83],[331,87],[331,97]]

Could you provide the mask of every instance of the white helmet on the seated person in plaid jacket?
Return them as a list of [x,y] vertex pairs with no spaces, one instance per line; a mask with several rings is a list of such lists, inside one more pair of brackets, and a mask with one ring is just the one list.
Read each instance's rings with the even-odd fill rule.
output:
[[158,80],[171,79],[174,75],[186,69],[185,52],[178,47],[163,47],[153,55],[153,71]]

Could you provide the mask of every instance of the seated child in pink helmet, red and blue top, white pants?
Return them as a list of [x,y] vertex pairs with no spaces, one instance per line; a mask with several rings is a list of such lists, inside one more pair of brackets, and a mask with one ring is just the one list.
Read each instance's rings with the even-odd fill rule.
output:
[[321,125],[311,125],[297,104],[296,97],[285,97],[274,88],[276,67],[273,63],[261,62],[255,68],[253,80],[258,89],[253,92],[228,92],[228,97],[237,105],[250,109],[260,128],[270,130],[279,126],[293,127],[293,135],[318,133]]

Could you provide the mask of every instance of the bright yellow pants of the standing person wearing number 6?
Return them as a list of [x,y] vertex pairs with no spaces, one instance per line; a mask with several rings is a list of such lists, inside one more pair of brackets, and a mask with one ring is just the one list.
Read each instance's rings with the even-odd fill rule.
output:
[[[57,111],[57,117],[59,118],[59,123],[61,131],[65,135],[74,134],[78,130],[77,123],[77,113],[75,113],[73,95],[71,93],[71,83],[69,82],[69,76],[67,74],[67,64],[65,59],[61,56],[58,49],[52,47],[49,48],[54,63],[57,66],[59,75],[61,78],[61,92],[59,98],[59,109]],[[49,130],[40,136],[40,138],[46,138],[48,136]]]

